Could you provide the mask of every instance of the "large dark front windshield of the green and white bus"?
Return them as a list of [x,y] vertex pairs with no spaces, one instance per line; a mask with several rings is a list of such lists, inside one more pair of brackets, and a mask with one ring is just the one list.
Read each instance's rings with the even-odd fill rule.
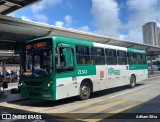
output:
[[21,75],[23,77],[46,77],[52,73],[51,48],[25,50],[22,53]]

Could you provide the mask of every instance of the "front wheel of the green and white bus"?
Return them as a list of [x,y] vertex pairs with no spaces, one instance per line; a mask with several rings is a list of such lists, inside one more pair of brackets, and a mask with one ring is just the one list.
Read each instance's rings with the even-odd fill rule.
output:
[[90,97],[91,94],[91,88],[90,85],[88,84],[88,82],[82,82],[81,86],[80,86],[80,95],[79,98],[81,100],[86,100]]

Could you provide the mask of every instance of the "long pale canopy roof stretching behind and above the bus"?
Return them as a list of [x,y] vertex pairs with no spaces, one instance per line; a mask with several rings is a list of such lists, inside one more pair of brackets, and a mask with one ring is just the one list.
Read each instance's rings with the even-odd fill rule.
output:
[[160,48],[151,45],[0,15],[0,50],[18,50],[21,47],[21,43],[26,40],[51,35],[83,39],[127,48],[144,49],[149,54],[160,54]]

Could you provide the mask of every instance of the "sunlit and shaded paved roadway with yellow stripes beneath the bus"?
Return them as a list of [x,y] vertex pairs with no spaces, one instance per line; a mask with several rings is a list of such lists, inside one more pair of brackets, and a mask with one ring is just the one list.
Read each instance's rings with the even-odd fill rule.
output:
[[[16,85],[16,84],[15,84]],[[10,88],[13,85],[10,86]],[[1,99],[0,113],[40,113],[42,118],[54,120],[72,121],[106,121],[118,118],[115,121],[160,121],[160,77],[153,77],[143,81],[133,89],[127,86],[96,92],[85,101],[79,101],[76,97],[58,101],[37,101],[20,99],[19,94],[8,95]],[[9,89],[8,89],[9,90]],[[9,94],[9,91],[6,91]],[[9,98],[9,96],[12,96]],[[8,99],[7,99],[8,97]],[[4,102],[7,100],[8,102]],[[147,114],[148,113],[148,114]],[[147,120],[142,117],[150,117]],[[128,120],[127,118],[133,118]],[[155,118],[155,119],[151,119]],[[20,121],[20,120],[3,120]],[[22,120],[21,120],[22,121]],[[30,120],[25,120],[30,121]],[[37,120],[32,120],[36,122]],[[46,120],[41,120],[45,122]],[[49,120],[48,120],[49,121]],[[71,121],[71,120],[68,120]]]

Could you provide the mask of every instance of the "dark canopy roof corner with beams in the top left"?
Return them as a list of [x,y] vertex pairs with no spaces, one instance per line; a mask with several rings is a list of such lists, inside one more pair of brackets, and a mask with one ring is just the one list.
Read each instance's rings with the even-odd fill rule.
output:
[[40,0],[0,0],[0,14],[7,15]]

